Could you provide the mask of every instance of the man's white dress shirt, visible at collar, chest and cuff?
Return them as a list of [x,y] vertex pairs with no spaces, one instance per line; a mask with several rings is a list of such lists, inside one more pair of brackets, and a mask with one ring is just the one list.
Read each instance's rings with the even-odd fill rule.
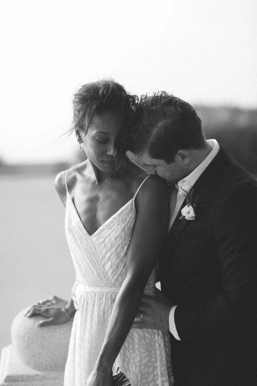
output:
[[[171,218],[169,221],[168,232],[170,231],[170,228],[172,227],[173,222],[174,222],[175,218],[177,217],[177,214],[180,210],[181,205],[183,204],[183,201],[185,200],[187,192],[192,188],[192,186],[197,181],[199,176],[205,171],[207,166],[212,162],[212,160],[214,159],[214,157],[216,157],[216,155],[218,154],[218,152],[220,150],[220,146],[219,146],[219,143],[217,142],[217,140],[207,140],[207,142],[209,142],[213,146],[213,149],[210,152],[210,154],[207,155],[207,157],[202,161],[202,163],[200,165],[198,165],[197,168],[195,168],[190,175],[188,175],[186,178],[182,179],[181,181],[178,182],[178,184],[176,184],[178,191],[176,192],[176,190],[174,190],[171,193],[170,210],[172,212],[170,212]],[[186,192],[185,192],[185,190],[186,190]],[[174,202],[174,195],[175,194],[177,195],[177,197],[176,197],[177,201],[176,201],[175,210],[173,211],[172,207],[174,208],[174,204],[172,205],[172,201]],[[177,329],[176,329],[175,320],[174,320],[174,313],[175,313],[176,308],[177,308],[177,306],[173,306],[172,309],[170,310],[170,313],[169,313],[169,330],[177,340],[180,340]]]

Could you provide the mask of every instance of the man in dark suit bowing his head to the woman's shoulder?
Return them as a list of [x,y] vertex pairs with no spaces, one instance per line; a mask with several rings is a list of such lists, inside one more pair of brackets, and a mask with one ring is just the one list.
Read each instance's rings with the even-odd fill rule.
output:
[[140,105],[132,150],[169,183],[171,218],[161,292],[133,327],[170,330],[174,386],[256,386],[257,181],[188,103],[161,92]]

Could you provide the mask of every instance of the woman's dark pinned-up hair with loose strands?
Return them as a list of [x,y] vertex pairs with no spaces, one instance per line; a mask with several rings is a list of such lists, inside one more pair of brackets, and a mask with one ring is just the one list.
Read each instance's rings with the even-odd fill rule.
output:
[[115,143],[115,169],[122,170],[128,161],[128,132],[135,125],[137,102],[136,96],[129,95],[125,88],[113,79],[86,83],[74,94],[71,132],[79,129],[86,134],[94,114],[120,113],[121,127]]

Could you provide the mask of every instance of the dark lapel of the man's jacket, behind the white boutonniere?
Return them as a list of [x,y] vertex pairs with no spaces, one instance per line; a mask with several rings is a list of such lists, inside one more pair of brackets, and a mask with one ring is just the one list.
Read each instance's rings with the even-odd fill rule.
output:
[[[208,165],[208,167],[205,169],[205,171],[200,175],[200,177],[197,179],[195,184],[193,185],[193,197],[196,199],[199,197],[199,210],[201,205],[204,205],[204,202],[206,201],[208,195],[211,193],[211,191],[215,188],[216,184],[218,183],[218,178],[221,176],[221,172],[223,168],[225,167],[227,161],[229,159],[229,155],[226,153],[225,149],[220,145],[220,151],[216,155],[216,157],[213,159],[213,161]],[[184,208],[187,205],[187,200],[183,201],[183,204],[181,206],[181,209]],[[168,233],[168,239],[167,242],[172,242],[173,246],[176,246],[177,241],[180,238],[181,233],[185,229],[186,226],[189,225],[191,220],[186,220],[185,218],[180,220],[181,217],[181,209],[179,210],[174,223]],[[197,221],[197,214],[196,219],[193,221]],[[171,252],[171,251],[170,251]]]

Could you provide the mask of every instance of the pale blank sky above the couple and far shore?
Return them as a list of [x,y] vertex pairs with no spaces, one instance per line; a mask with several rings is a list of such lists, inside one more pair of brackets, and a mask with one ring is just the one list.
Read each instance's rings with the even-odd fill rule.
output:
[[70,161],[72,95],[102,77],[256,108],[256,20],[256,0],[0,1],[0,157]]

